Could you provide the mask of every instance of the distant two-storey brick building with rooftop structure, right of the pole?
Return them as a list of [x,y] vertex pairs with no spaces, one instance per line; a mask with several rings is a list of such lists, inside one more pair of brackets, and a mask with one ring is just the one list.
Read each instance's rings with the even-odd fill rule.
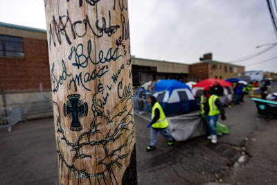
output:
[[[208,57],[208,58],[207,58]],[[200,58],[201,62],[190,64],[188,80],[200,81],[206,78],[240,78],[244,73],[244,67],[225,62],[218,62],[212,59],[211,53]]]

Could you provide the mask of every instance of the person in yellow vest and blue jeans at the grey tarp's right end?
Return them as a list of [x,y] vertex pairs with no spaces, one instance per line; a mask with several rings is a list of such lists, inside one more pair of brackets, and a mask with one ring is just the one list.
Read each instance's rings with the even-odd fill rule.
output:
[[208,97],[206,103],[204,103],[204,114],[208,123],[208,128],[210,130],[210,136],[208,139],[211,139],[211,143],[217,143],[217,132],[215,130],[218,116],[221,115],[222,121],[226,119],[224,106],[220,102],[219,96],[215,95],[211,91],[211,96]]

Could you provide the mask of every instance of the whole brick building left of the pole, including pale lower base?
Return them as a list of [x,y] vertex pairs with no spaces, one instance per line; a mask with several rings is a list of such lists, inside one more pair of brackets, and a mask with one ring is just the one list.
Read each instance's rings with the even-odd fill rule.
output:
[[0,114],[21,107],[24,118],[51,116],[46,38],[46,30],[0,22]]

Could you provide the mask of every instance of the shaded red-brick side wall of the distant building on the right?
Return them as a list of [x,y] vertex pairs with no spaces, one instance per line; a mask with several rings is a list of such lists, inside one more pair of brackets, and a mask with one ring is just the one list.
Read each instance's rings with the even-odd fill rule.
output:
[[208,78],[208,62],[191,64],[189,66],[188,80],[204,80]]

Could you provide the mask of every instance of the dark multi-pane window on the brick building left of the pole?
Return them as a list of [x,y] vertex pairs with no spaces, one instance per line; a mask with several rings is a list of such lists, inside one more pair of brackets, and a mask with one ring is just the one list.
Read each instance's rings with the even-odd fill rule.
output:
[[0,56],[23,58],[23,39],[0,35]]

